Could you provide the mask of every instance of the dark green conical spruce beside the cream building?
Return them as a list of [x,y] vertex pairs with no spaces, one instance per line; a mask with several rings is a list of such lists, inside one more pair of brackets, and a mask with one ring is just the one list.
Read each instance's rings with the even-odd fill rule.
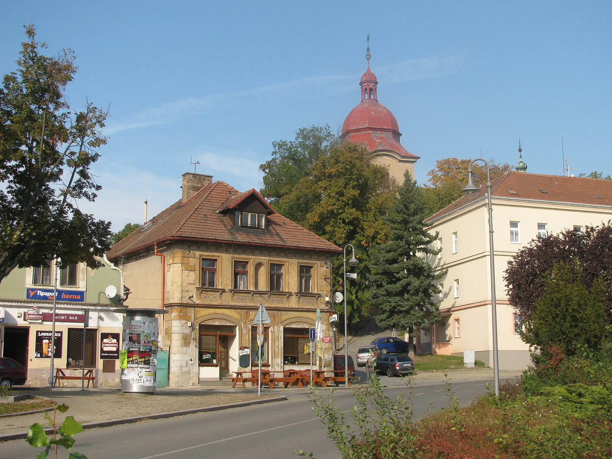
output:
[[439,253],[432,248],[438,233],[425,230],[426,217],[422,192],[406,171],[384,218],[389,241],[376,244],[370,255],[370,302],[378,308],[376,323],[384,329],[408,329],[412,334],[415,326],[441,319],[432,298],[440,293],[435,280],[446,272],[434,274],[425,258]]

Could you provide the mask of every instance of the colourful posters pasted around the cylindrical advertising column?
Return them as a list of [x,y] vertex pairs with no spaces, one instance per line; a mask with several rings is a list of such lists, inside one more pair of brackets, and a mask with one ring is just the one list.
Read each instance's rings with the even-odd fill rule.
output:
[[121,379],[128,379],[131,384],[153,386],[157,370],[157,318],[132,320],[123,327],[122,351],[119,358]]

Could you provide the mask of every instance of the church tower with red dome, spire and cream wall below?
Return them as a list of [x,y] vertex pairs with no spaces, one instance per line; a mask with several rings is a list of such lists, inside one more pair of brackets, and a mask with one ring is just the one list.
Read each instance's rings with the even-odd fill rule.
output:
[[378,80],[370,70],[370,35],[365,54],[368,68],[361,76],[361,102],[345,119],[342,125],[342,139],[364,145],[375,154],[375,162],[389,170],[398,184],[404,181],[404,172],[410,171],[414,179],[414,163],[419,156],[408,152],[400,144],[400,127],[393,113],[378,102]]

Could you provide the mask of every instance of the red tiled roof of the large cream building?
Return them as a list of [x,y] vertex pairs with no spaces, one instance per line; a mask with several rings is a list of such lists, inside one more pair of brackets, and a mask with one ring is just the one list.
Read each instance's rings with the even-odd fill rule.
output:
[[[512,171],[495,179],[492,185],[492,198],[612,207],[612,181],[610,180]],[[431,215],[426,222],[433,222],[459,207],[483,198],[486,194],[487,187],[482,185],[479,192],[462,196],[441,211]]]

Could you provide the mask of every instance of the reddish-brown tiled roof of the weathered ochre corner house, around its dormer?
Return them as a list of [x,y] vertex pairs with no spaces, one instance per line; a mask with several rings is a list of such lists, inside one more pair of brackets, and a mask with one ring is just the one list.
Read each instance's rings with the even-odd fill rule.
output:
[[[206,185],[181,204],[172,204],[142,228],[130,233],[113,245],[106,256],[110,259],[119,255],[150,247],[155,242],[171,240],[192,240],[240,245],[266,245],[299,250],[340,252],[341,248],[306,230],[280,214],[266,217],[266,229],[233,226],[222,209],[229,209],[242,201],[254,190],[240,193],[225,182],[217,181]],[[257,192],[255,192],[257,193]],[[259,193],[257,193],[258,196]],[[268,204],[264,204],[270,209]]]

